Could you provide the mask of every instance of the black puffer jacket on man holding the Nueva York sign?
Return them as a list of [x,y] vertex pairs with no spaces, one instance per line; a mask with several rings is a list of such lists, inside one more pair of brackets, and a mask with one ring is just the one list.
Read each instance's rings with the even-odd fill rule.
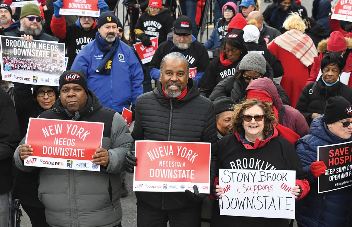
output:
[[[134,140],[210,142],[210,184],[216,175],[216,125],[213,103],[200,95],[196,82],[188,80],[188,92],[180,100],[165,97],[161,83],[136,100]],[[137,205],[174,210],[199,206],[185,192],[136,192]]]

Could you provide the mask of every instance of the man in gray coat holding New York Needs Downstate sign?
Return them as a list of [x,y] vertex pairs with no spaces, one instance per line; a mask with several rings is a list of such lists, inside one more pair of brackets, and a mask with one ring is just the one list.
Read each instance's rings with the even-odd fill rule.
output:
[[[88,90],[82,70],[65,71],[59,86],[60,99],[39,118],[72,120],[72,124],[103,122],[105,127],[102,147],[96,149],[90,164],[101,165],[99,172],[40,169],[38,197],[45,205],[46,221],[51,226],[121,226],[121,172],[125,168],[124,156],[133,142],[129,129],[120,114],[103,107],[94,92]],[[17,167],[28,172],[33,167],[24,166],[23,160],[40,151],[23,144],[25,139],[14,158]]]

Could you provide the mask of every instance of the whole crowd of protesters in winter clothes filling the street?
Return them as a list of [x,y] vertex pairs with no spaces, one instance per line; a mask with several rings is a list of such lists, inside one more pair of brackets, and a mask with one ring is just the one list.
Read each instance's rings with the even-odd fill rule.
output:
[[[125,226],[126,171],[143,162],[137,140],[211,143],[210,194],[197,185],[193,192],[136,192],[138,227],[293,226],[219,212],[226,192],[219,169],[265,166],[296,171],[289,191],[299,227],[352,225],[352,187],[318,193],[328,163],[318,161],[317,147],[352,141],[352,24],[331,18],[339,1],[313,0],[310,13],[300,0],[273,0],[260,13],[257,0],[214,0],[205,43],[197,40],[196,0],[180,1],[177,17],[161,0],[124,1],[132,8],[129,41],[116,2],[98,0],[97,18],[61,15],[63,2],[0,4],[0,35],[62,42],[68,57],[64,71],[63,63],[3,53],[5,72],[61,76],[59,87],[0,77],[1,227],[12,226],[14,199],[33,227]],[[143,64],[132,44],[150,47],[156,36],[155,54]],[[38,152],[26,143],[31,117],[103,122],[92,156],[100,171],[25,166]],[[250,160],[263,165],[239,164]]]

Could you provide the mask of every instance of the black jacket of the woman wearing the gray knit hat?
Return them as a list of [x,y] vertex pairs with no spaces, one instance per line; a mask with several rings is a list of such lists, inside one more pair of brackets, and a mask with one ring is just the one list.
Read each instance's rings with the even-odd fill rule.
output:
[[[237,69],[238,67],[239,64],[237,65]],[[237,103],[245,99],[245,91],[247,89],[248,84],[243,77],[238,79],[238,81],[236,81],[236,77],[237,75],[227,76],[224,80],[221,80],[219,84],[216,85],[216,87],[213,89],[212,93],[209,96],[209,99],[214,101],[220,96],[227,96],[231,97]],[[266,73],[264,74],[264,77],[268,77],[271,80],[272,78],[274,78],[273,70],[268,62],[266,62]],[[278,94],[282,99],[283,104],[291,105],[290,99],[288,98],[285,90],[281,87],[281,85],[276,84],[275,82],[274,84],[277,88]]]

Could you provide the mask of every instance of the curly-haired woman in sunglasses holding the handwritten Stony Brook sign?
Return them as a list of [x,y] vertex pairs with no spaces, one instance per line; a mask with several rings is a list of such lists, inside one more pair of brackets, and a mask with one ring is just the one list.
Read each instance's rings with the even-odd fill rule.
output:
[[[275,170],[295,170],[296,186],[291,193],[295,195],[296,200],[300,200],[309,191],[309,184],[305,180],[308,174],[303,170],[301,160],[291,143],[278,135],[276,124],[270,103],[247,99],[237,104],[230,123],[232,134],[218,141],[217,168],[263,170],[270,166]],[[250,165],[256,162],[263,165]],[[214,201],[211,226],[220,225],[288,227],[289,220],[220,215],[219,201]]]

